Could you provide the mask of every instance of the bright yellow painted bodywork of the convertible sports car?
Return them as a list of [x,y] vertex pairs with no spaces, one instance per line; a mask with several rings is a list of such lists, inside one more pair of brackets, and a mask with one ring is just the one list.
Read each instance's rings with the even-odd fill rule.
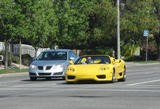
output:
[[[96,55],[97,56],[97,55]],[[110,64],[73,64],[68,66],[66,71],[66,81],[76,82],[79,80],[95,80],[95,81],[112,81],[113,70],[115,69],[115,78],[122,79],[125,62],[120,59],[109,57]],[[94,62],[94,63],[98,63]],[[121,74],[121,76],[120,76]],[[105,75],[106,78],[98,78],[99,75]],[[68,76],[74,76],[74,79],[69,79]]]

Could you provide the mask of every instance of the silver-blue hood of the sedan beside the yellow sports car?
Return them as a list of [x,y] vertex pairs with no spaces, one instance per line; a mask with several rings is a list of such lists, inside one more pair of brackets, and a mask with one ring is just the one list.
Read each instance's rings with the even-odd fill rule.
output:
[[48,61],[43,61],[43,60],[35,60],[31,63],[31,65],[36,65],[36,66],[53,66],[53,65],[59,65],[59,64],[68,64],[67,60],[48,60]]

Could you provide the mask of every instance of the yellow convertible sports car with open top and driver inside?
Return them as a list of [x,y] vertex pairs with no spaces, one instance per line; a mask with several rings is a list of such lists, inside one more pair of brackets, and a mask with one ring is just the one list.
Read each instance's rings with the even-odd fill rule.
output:
[[80,80],[125,81],[126,65],[122,59],[110,56],[92,55],[70,61],[65,79],[68,83]]

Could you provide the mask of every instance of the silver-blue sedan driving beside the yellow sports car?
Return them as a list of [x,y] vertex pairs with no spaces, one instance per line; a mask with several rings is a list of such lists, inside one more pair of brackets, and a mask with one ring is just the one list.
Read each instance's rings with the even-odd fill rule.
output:
[[65,79],[65,72],[69,60],[75,62],[78,56],[70,49],[54,49],[43,51],[29,67],[30,80],[37,78],[51,79],[60,77]]

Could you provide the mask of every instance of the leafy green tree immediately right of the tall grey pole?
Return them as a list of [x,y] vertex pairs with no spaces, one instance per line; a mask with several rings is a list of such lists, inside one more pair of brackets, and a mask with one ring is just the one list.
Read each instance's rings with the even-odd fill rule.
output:
[[123,55],[128,54],[137,49],[137,47],[142,46],[143,31],[145,29],[152,32],[154,28],[155,21],[150,14],[152,12],[152,2],[151,0],[127,0],[125,4],[124,14],[121,17],[121,45],[123,50]]

